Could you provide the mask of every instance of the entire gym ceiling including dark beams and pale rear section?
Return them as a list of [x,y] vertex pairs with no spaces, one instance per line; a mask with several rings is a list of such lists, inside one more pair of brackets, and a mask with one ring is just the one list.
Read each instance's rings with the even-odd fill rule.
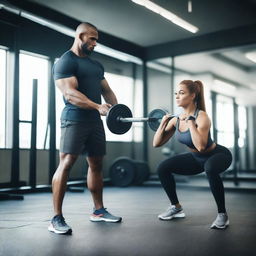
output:
[[[179,69],[217,73],[254,89],[256,96],[256,64],[245,58],[246,52],[256,51],[256,0],[191,0],[192,12],[188,0],[151,0],[198,27],[195,34],[131,0],[3,1],[73,29],[77,24],[73,21],[88,21],[98,27],[99,42],[104,39],[109,47],[122,51],[125,42],[124,52],[128,49],[132,54],[129,48],[137,47],[137,52],[145,51],[146,60],[162,65],[170,65],[170,56],[178,56]],[[58,15],[62,18],[55,18]]]

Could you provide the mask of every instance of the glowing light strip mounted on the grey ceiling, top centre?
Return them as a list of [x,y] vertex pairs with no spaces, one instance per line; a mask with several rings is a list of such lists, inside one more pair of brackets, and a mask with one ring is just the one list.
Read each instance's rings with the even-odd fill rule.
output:
[[132,0],[134,3],[142,5],[146,7],[147,9],[151,10],[152,12],[155,12],[157,14],[160,14],[167,20],[170,20],[172,23],[188,30],[191,33],[196,33],[198,32],[198,28],[187,21],[181,19],[174,13],[167,11],[166,9],[162,8],[161,6],[149,1],[149,0]]

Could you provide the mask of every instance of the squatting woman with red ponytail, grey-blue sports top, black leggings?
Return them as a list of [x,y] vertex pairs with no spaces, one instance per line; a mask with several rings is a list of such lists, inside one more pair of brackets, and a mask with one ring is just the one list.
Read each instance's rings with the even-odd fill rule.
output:
[[159,179],[171,202],[168,209],[158,218],[170,220],[185,217],[176,194],[173,173],[194,175],[205,171],[218,208],[217,218],[211,228],[224,229],[229,225],[229,220],[225,208],[224,187],[219,174],[230,166],[232,155],[227,148],[211,139],[211,121],[205,111],[201,81],[182,81],[176,92],[176,102],[183,108],[183,113],[172,119],[169,115],[163,117],[155,133],[153,146],[162,146],[176,132],[178,141],[188,146],[190,152],[170,157],[158,166]]

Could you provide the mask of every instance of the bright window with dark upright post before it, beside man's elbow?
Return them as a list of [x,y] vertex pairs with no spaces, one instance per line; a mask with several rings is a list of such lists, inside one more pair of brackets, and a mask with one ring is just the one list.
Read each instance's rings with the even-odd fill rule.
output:
[[38,80],[36,147],[44,149],[48,123],[48,60],[20,53],[20,148],[30,148],[33,79]]

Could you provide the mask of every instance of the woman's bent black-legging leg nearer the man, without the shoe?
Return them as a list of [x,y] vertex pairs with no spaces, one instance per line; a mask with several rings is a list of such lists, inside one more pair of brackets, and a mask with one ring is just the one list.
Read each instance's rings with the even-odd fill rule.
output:
[[157,168],[158,176],[172,205],[179,204],[173,173],[194,175],[202,171],[202,167],[197,163],[191,153],[170,157],[159,164]]

